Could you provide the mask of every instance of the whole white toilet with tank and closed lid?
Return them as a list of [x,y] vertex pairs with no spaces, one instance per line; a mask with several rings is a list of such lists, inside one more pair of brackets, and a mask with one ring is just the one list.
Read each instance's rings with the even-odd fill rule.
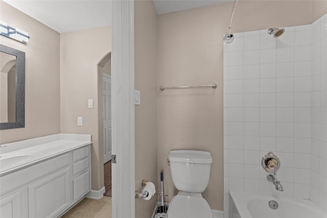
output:
[[212,218],[211,209],[201,193],[209,183],[211,154],[204,151],[173,150],[168,160],[178,194],[169,204],[168,218]]

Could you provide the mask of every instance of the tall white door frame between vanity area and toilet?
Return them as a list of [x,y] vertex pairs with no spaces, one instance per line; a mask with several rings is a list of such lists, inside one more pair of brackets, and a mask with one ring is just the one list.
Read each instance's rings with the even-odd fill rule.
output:
[[134,0],[112,1],[112,217],[135,217]]

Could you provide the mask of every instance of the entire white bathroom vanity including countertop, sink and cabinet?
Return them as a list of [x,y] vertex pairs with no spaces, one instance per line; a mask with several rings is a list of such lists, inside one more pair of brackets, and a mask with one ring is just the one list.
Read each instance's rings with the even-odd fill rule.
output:
[[91,189],[91,135],[56,134],[3,144],[0,217],[58,217]]

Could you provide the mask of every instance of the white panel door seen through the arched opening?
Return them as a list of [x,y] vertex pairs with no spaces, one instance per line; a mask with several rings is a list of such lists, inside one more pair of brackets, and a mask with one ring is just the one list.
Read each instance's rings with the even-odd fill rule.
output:
[[103,74],[103,163],[111,160],[111,77]]

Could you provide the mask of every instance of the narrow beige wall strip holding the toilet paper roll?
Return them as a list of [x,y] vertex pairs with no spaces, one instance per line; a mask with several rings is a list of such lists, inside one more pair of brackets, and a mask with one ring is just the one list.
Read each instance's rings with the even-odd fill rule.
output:
[[[152,1],[135,1],[135,89],[141,105],[135,106],[135,190],[142,180],[157,182],[156,40],[157,16]],[[151,217],[151,200],[135,199],[135,217]]]

